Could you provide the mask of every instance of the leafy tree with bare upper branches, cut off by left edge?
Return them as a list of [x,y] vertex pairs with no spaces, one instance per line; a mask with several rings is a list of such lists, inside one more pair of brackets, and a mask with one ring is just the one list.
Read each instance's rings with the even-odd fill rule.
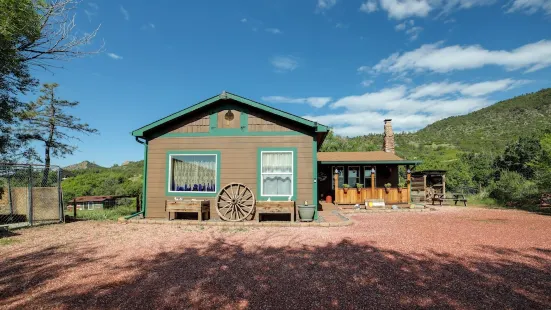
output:
[[75,14],[78,0],[0,0],[0,156],[25,145],[14,135],[21,94],[38,82],[29,70],[49,69],[102,50],[85,50],[99,27],[79,35]]

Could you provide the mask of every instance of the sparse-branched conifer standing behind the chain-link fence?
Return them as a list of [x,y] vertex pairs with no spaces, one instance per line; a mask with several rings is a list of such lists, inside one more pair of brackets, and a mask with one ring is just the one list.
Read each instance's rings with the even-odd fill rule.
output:
[[23,127],[21,136],[25,140],[34,140],[44,143],[44,176],[42,184],[46,184],[50,168],[51,155],[64,157],[73,154],[76,146],[65,143],[68,140],[77,139],[69,132],[96,133],[80,119],[67,114],[65,109],[77,106],[77,101],[67,101],[55,96],[55,90],[59,85],[44,84],[42,95],[35,102],[27,104],[26,109],[20,114],[26,126]]

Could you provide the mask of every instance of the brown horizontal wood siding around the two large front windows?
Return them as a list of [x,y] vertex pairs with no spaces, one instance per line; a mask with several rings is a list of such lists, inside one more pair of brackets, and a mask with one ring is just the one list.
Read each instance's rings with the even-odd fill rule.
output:
[[[237,136],[237,137],[178,137],[149,141],[147,167],[147,217],[165,217],[166,153],[168,151],[220,151],[220,186],[239,182],[257,192],[257,151],[264,147],[297,148],[297,201],[312,200],[313,167],[312,137],[299,136]],[[193,197],[200,199],[200,197]],[[218,217],[211,200],[211,217]]]

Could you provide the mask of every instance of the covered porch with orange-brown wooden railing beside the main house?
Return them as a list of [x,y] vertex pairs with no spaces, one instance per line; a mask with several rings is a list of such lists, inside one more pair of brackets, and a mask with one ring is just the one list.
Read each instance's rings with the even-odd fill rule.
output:
[[335,204],[344,205],[375,199],[407,204],[411,201],[411,167],[419,163],[384,151],[318,153],[320,198],[331,196]]

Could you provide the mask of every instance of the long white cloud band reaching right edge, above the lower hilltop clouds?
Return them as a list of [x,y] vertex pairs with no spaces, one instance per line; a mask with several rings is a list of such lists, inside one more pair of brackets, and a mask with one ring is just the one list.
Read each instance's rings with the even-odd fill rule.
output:
[[410,52],[392,54],[371,70],[367,66],[361,66],[358,71],[392,74],[427,71],[446,73],[489,65],[504,67],[508,71],[525,69],[527,73],[549,67],[551,41],[542,40],[511,51],[487,50],[480,45],[443,46],[443,42],[425,44]]

